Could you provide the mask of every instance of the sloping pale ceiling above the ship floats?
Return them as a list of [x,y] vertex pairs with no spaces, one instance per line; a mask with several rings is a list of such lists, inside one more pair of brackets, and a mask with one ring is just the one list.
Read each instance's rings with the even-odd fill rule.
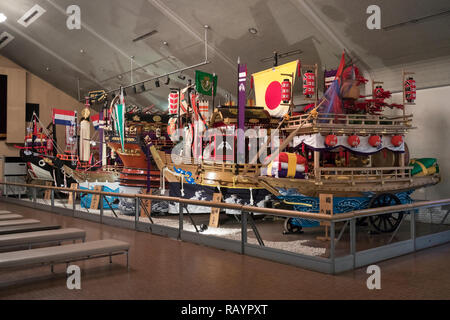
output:
[[[17,20],[34,4],[46,12],[25,28]],[[66,27],[65,11],[72,4],[81,8],[81,30]],[[368,30],[365,11],[370,4],[381,7],[382,26],[450,9],[448,0],[1,1],[0,12],[8,20],[0,24],[0,33],[8,31],[15,39],[0,54],[73,97],[78,96],[77,78],[82,96],[128,85],[131,56],[135,82],[202,62],[205,24],[210,26],[211,63],[201,69],[218,74],[222,97],[236,92],[238,57],[252,73],[271,65],[260,60],[274,50],[301,49],[302,54],[283,61],[300,58],[303,64],[318,63],[320,69],[336,67],[343,48],[367,70],[450,56],[450,16],[391,31]],[[249,28],[258,33],[250,34]],[[158,33],[132,41],[152,30]],[[186,75],[192,78],[194,73]],[[184,84],[171,77],[170,87]],[[165,109],[169,87],[146,87],[152,89],[143,94],[129,90],[131,101]]]

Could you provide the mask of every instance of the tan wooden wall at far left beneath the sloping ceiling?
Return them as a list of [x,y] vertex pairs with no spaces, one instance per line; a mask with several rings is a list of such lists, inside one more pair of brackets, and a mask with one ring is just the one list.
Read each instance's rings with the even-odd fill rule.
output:
[[[39,117],[45,126],[52,120],[52,108],[81,111],[83,107],[76,99],[1,55],[0,74],[8,75],[7,140],[0,140],[0,155],[19,155],[14,145],[23,145],[26,103],[39,104]],[[57,128],[57,138],[61,142],[64,140],[61,126]]]

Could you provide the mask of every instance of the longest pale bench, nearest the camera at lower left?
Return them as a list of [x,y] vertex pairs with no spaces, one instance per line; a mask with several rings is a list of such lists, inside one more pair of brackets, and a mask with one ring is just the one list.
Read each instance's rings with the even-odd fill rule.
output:
[[111,257],[119,254],[127,255],[128,268],[129,248],[130,245],[126,242],[107,239],[64,246],[5,252],[0,253],[0,269],[50,265],[51,271],[53,272],[53,266],[55,264],[68,264],[73,261],[102,257],[109,257],[109,262],[112,263]]

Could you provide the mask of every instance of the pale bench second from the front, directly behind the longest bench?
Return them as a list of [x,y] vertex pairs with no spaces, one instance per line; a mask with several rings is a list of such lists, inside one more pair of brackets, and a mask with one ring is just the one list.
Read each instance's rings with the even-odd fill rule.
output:
[[76,241],[86,239],[86,232],[81,229],[67,228],[48,231],[36,231],[26,233],[15,233],[0,235],[0,248],[28,246],[31,249],[33,244],[57,243],[63,241]]

